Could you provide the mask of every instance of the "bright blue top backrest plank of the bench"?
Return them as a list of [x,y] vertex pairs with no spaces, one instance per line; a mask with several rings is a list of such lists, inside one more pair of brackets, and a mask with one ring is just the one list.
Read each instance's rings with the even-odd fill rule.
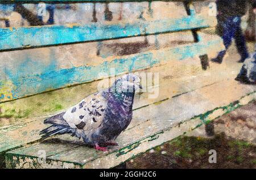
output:
[[179,19],[164,19],[151,22],[138,21],[133,24],[68,24],[40,27],[0,28],[0,50],[51,46],[86,41],[108,40],[155,33],[207,28],[213,18],[201,15]]

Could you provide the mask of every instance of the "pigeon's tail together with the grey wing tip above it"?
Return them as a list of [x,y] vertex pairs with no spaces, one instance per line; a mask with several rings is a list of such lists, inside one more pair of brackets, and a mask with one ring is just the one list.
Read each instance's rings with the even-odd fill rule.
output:
[[49,126],[44,130],[40,131],[40,135],[42,135],[43,139],[56,134],[72,133],[72,128],[63,119],[64,114],[65,113],[53,115],[52,117],[49,117],[44,120],[44,123],[52,124],[52,126]]

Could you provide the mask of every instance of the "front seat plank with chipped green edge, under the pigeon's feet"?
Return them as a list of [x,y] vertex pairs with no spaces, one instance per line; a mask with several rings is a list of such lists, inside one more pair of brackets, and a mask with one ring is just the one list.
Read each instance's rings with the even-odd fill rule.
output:
[[[209,93],[211,91],[215,93]],[[80,145],[81,142],[72,138],[73,143],[78,143],[78,146],[65,150],[67,142],[61,141],[65,141],[67,136],[57,136],[59,142],[56,142],[56,138],[49,139],[7,152],[7,167],[22,168],[27,164],[26,167],[30,168],[67,168],[55,164],[68,162],[72,167],[79,165],[82,168],[112,168],[255,99],[256,87],[240,84],[233,79],[224,80],[135,110],[133,121],[137,125],[131,124],[118,137],[119,147],[111,152],[97,152],[93,148]],[[144,114],[143,118],[141,114]],[[188,121],[189,119],[191,120]],[[56,143],[63,146],[63,151],[52,152]],[[39,149],[46,152],[46,163],[38,163]]]

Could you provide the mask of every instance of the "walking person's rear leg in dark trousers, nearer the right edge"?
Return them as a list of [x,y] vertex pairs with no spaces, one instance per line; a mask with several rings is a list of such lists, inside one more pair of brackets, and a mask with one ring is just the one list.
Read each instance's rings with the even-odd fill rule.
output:
[[246,58],[249,57],[249,53],[247,52],[247,47],[246,47],[246,42],[245,42],[245,37],[243,36],[242,29],[240,27],[241,25],[241,18],[239,22],[237,22],[237,29],[235,33],[235,42],[237,46],[237,51],[241,55],[241,59],[238,62],[243,63]]

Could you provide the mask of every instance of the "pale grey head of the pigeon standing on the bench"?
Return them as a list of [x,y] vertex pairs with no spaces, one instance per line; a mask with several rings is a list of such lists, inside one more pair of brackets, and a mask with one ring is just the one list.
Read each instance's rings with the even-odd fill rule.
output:
[[112,85],[114,91],[117,93],[134,93],[137,89],[141,87],[141,78],[135,74],[126,74],[115,80]]

